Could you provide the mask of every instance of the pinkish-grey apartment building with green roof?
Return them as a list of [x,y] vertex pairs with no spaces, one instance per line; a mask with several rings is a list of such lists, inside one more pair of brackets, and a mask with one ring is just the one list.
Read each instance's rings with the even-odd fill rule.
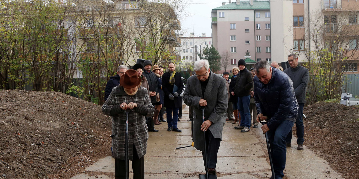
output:
[[248,69],[262,59],[271,62],[270,17],[269,1],[229,1],[212,9],[213,45],[220,54],[229,52],[227,72],[239,59]]

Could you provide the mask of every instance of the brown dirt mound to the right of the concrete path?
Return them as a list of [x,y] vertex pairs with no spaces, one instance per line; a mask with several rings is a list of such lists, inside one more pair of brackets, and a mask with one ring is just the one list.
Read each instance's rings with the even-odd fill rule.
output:
[[[359,107],[318,102],[304,108],[304,139],[346,179],[359,175]],[[293,132],[295,134],[295,132]]]

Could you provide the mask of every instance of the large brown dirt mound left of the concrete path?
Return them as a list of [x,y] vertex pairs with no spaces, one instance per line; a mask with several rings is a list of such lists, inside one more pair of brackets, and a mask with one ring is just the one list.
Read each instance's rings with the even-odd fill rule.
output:
[[0,90],[0,178],[71,178],[111,155],[111,118],[60,92]]

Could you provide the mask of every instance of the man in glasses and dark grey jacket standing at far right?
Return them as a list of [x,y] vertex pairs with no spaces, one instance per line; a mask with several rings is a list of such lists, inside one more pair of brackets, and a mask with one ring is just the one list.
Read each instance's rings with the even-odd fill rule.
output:
[[[306,103],[306,89],[309,81],[309,72],[306,67],[301,66],[298,63],[297,55],[292,53],[288,55],[288,63],[290,68],[284,70],[284,73],[292,79],[293,88],[295,92],[295,97],[297,98],[299,109],[298,109],[298,118],[295,121],[295,126],[297,127],[297,144],[298,150],[304,150],[304,125],[303,125],[303,107]],[[292,146],[292,130],[287,136],[287,147]]]

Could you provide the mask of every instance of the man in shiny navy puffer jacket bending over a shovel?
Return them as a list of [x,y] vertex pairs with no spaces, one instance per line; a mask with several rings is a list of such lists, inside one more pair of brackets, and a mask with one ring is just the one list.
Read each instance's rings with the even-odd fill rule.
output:
[[285,139],[298,114],[293,83],[288,75],[271,67],[267,61],[257,62],[253,68],[257,121],[268,120],[261,128],[263,133],[268,132],[275,178],[282,179],[286,160]]

